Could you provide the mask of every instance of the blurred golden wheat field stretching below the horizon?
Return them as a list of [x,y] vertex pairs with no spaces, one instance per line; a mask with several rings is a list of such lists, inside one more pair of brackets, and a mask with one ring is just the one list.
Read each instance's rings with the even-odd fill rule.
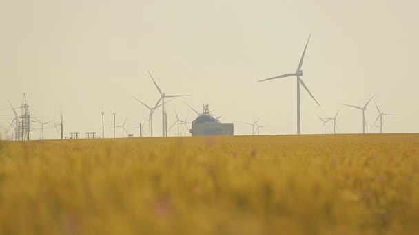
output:
[[419,135],[3,142],[0,234],[419,234]]

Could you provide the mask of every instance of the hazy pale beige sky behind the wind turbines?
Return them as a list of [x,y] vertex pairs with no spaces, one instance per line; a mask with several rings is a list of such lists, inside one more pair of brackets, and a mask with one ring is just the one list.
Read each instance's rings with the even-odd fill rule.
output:
[[[400,114],[385,132],[418,132],[418,9],[414,0],[0,0],[0,129],[13,117],[7,99],[19,106],[23,93],[43,121],[58,122],[62,106],[66,136],[101,135],[102,106],[106,124],[113,109],[117,124],[127,115],[127,124],[143,122],[148,111],[132,96],[150,105],[159,98],[149,69],[163,92],[191,95],[167,105],[169,124],[173,105],[184,118],[184,102],[200,111],[207,102],[237,135],[250,134],[243,122],[259,116],[269,126],[261,134],[294,134],[296,78],[256,80],[295,72],[312,33],[303,80],[321,108],[302,90],[302,133],[320,133],[314,113],[362,106],[376,92],[382,111]],[[377,115],[371,103],[369,125]],[[338,116],[342,133],[360,133],[361,121],[349,107]],[[59,136],[52,128],[45,137]]]

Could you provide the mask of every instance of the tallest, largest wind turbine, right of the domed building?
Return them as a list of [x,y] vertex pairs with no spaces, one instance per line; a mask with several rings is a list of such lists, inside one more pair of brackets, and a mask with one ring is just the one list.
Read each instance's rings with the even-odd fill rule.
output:
[[[314,96],[311,94],[311,92],[309,91],[309,89],[307,88],[305,83],[303,82],[303,79],[301,78],[301,76],[303,76],[303,70],[301,70],[301,67],[303,67],[303,60],[304,60],[304,56],[305,56],[305,51],[307,50],[307,45],[309,45],[310,38],[311,38],[311,34],[309,36],[309,39],[307,40],[307,44],[305,45],[303,56],[301,56],[300,63],[298,63],[297,70],[294,74],[283,74],[283,75],[276,76],[276,77],[273,77],[273,78],[267,78],[267,79],[258,81],[258,82],[263,82],[263,81],[272,80],[272,79],[276,79],[276,78],[286,78],[286,77],[292,77],[292,76],[297,77],[297,134],[298,135],[300,135],[300,133],[301,133],[301,126],[300,126],[300,85],[303,85],[304,89],[309,93],[311,98],[313,98],[313,100],[318,104],[316,98],[314,98]],[[320,104],[318,104],[318,106],[320,107]]]

